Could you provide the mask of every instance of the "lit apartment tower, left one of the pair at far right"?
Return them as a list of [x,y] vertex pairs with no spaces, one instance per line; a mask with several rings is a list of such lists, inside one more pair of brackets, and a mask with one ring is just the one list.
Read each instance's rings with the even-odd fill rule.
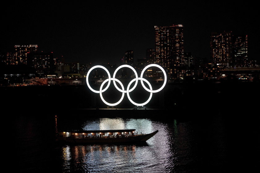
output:
[[232,67],[232,32],[212,32],[210,49],[212,63],[220,69]]

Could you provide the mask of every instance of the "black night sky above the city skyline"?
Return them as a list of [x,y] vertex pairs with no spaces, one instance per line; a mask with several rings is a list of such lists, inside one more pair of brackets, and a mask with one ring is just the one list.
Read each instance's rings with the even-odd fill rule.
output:
[[154,48],[154,26],[184,25],[184,52],[210,57],[210,32],[248,35],[249,57],[259,59],[256,5],[186,1],[30,1],[1,8],[0,51],[38,44],[66,62],[118,64],[124,51],[144,58]]

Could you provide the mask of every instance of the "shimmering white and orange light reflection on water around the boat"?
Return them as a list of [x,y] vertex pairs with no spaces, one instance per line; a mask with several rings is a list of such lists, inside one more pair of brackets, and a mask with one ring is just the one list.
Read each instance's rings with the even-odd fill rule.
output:
[[[174,165],[167,124],[149,119],[102,118],[86,121],[84,130],[136,129],[138,133],[159,132],[147,144],[67,145],[63,147],[63,171],[83,172],[171,172]],[[171,139],[170,139],[171,140]],[[70,160],[68,159],[70,156]],[[69,161],[68,161],[69,160]]]

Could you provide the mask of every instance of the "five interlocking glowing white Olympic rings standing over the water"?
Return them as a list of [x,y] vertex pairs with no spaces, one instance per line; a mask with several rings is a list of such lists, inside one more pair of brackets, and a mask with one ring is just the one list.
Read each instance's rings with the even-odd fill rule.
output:
[[[163,86],[162,86],[161,88],[159,88],[158,90],[153,90],[153,89],[152,89],[152,86],[151,86],[151,84],[150,84],[150,82],[148,82],[146,79],[142,78],[143,75],[144,75],[145,70],[147,70],[148,68],[153,67],[153,66],[154,66],[154,67],[158,67],[159,69],[161,69],[162,72],[163,72],[163,75],[164,75]],[[133,72],[134,72],[134,74],[135,74],[135,77],[136,77],[136,78],[132,79],[132,80],[129,82],[129,84],[128,84],[126,90],[124,90],[124,86],[123,86],[122,82],[120,82],[118,79],[115,78],[116,72],[117,72],[119,69],[123,68],[123,67],[128,67],[128,68],[130,68],[131,70],[133,70]],[[93,88],[91,88],[91,86],[89,85],[89,80],[88,80],[88,79],[89,79],[89,74],[90,74],[90,72],[91,72],[92,70],[94,70],[95,68],[102,68],[102,69],[104,69],[104,70],[106,71],[106,73],[108,74],[108,79],[106,79],[106,80],[101,84],[99,91],[94,90]],[[107,90],[107,88],[109,87],[109,85],[110,85],[110,83],[111,83],[111,80],[113,81],[113,83],[114,83],[114,85],[115,85],[115,88],[116,88],[118,91],[122,92],[122,97],[121,97],[121,99],[119,99],[119,101],[116,102],[116,103],[108,103],[108,102],[106,102],[106,100],[105,100],[105,99],[103,98],[103,96],[102,96],[102,92],[104,92],[104,91]],[[138,80],[141,80],[141,84],[142,84],[142,86],[144,87],[144,89],[145,89],[146,91],[150,92],[150,97],[149,97],[148,100],[145,101],[144,103],[135,103],[135,102],[130,98],[130,95],[129,95],[129,92],[133,91],[133,90],[136,88]],[[115,72],[114,72],[114,74],[113,74],[113,78],[111,78],[109,71],[108,71],[105,67],[103,67],[103,66],[101,66],[101,65],[96,65],[96,66],[93,66],[91,69],[89,69],[89,71],[88,71],[88,73],[87,73],[86,81],[87,81],[87,86],[89,87],[89,89],[90,89],[91,91],[95,92],[95,93],[99,93],[99,94],[100,94],[100,98],[102,99],[102,101],[103,101],[105,104],[109,105],[109,106],[116,106],[116,105],[118,105],[119,103],[121,103],[121,101],[124,99],[124,93],[127,93],[127,97],[128,97],[129,101],[130,101],[132,104],[134,104],[134,105],[136,105],[136,106],[143,106],[143,105],[147,104],[147,103],[151,100],[153,93],[159,92],[159,91],[161,91],[161,90],[164,88],[164,86],[166,85],[166,82],[167,82],[167,75],[166,75],[166,72],[165,72],[165,70],[163,69],[163,67],[161,67],[160,65],[150,64],[150,65],[147,65],[147,66],[142,70],[141,76],[140,76],[140,78],[138,78],[137,71],[136,71],[132,66],[130,66],[130,65],[121,65],[121,66],[119,66],[119,67],[115,70]],[[148,88],[144,85],[144,82],[143,82],[143,81],[145,81],[145,82],[148,84],[148,86],[149,86],[150,89],[148,89]],[[108,82],[108,84],[107,84],[106,88],[102,90],[102,88],[103,88],[103,86],[104,86],[104,84],[105,84],[106,82]],[[116,85],[115,82],[118,82],[118,83],[120,84],[120,86],[122,87],[122,89],[120,89],[120,88]],[[131,85],[133,82],[135,82],[135,85],[134,85],[131,89],[129,89],[129,88],[130,88],[130,85]]]

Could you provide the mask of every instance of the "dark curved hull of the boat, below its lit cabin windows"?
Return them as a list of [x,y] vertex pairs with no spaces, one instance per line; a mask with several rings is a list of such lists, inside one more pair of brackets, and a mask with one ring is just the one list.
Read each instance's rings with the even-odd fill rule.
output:
[[70,143],[136,143],[145,142],[153,137],[158,130],[153,133],[138,135],[134,137],[118,137],[118,138],[60,138],[59,141],[70,142]]

